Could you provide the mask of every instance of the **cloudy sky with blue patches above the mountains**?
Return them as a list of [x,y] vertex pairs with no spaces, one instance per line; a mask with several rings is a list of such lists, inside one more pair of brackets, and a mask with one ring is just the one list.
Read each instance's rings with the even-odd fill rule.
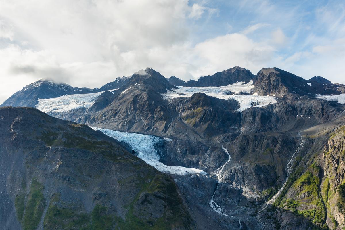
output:
[[0,103],[42,78],[95,88],[234,66],[345,84],[345,2],[0,0]]

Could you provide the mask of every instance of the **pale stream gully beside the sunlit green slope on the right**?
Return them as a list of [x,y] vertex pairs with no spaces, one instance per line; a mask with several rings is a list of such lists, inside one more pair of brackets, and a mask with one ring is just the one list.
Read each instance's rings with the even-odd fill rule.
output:
[[266,201],[262,206],[261,208],[259,209],[257,215],[256,215],[256,218],[258,219],[258,221],[263,225],[263,228],[265,229],[266,228],[266,225],[265,223],[262,222],[260,216],[261,216],[261,213],[267,208],[267,206],[270,204],[272,205],[274,203],[274,201],[279,197],[279,195],[282,193],[282,191],[284,190],[285,186],[286,186],[286,183],[287,183],[287,180],[289,179],[289,176],[292,172],[292,166],[293,166],[293,163],[294,163],[294,160],[295,158],[297,157],[297,154],[300,152],[300,150],[302,150],[303,148],[303,145],[304,145],[304,140],[300,134],[300,132],[298,132],[298,137],[300,137],[301,139],[301,142],[299,144],[299,146],[296,148],[296,151],[294,152],[294,154],[292,154],[291,156],[291,159],[289,160],[289,162],[287,163],[286,165],[286,179],[283,183],[283,186],[278,190],[278,192],[268,201]]

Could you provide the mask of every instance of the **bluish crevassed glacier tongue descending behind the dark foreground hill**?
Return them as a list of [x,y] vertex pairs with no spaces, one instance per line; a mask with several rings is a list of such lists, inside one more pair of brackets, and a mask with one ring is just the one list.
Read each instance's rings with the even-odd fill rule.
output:
[[207,174],[206,172],[200,169],[186,168],[181,166],[167,166],[162,162],[158,161],[160,159],[160,156],[157,153],[157,150],[155,149],[155,144],[162,141],[162,138],[146,134],[101,129],[97,127],[91,128],[94,130],[100,130],[109,137],[127,143],[133,150],[135,150],[138,153],[138,157],[140,159],[144,160],[146,163],[155,167],[161,172],[177,175],[186,175],[190,173]]

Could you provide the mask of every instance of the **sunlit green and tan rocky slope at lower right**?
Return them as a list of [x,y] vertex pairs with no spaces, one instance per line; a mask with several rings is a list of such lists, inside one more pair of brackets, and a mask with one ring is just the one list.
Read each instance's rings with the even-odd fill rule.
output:
[[305,146],[282,192],[260,214],[267,228],[345,227],[345,126],[340,124],[336,129],[331,124],[322,134],[302,136]]

